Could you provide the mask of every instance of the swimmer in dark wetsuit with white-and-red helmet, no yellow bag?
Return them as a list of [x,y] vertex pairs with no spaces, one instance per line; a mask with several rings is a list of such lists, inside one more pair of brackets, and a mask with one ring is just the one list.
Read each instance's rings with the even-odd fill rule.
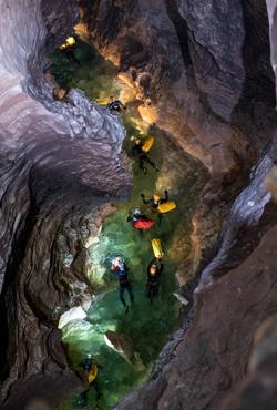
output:
[[124,259],[120,256],[114,257],[112,259],[111,270],[114,274],[114,276],[119,279],[120,300],[124,306],[125,312],[127,312],[129,311],[129,305],[126,304],[126,301],[124,299],[124,293],[125,293],[125,290],[127,290],[129,296],[130,296],[130,301],[131,301],[132,305],[134,303],[134,294],[133,294],[132,286],[129,281],[129,278],[127,278],[129,268],[127,268]]

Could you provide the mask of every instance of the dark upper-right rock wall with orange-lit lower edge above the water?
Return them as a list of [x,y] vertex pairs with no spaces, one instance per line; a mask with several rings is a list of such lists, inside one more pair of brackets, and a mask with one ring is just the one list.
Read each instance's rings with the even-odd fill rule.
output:
[[274,116],[264,1],[80,6],[76,30],[119,66],[142,116],[172,133],[212,175],[234,182],[257,157]]

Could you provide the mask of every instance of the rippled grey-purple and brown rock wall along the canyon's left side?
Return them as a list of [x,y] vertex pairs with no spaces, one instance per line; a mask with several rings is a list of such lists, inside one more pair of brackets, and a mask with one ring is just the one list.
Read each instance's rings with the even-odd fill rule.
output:
[[[16,410],[34,390],[57,404],[80,388],[51,312],[69,303],[70,281],[85,277],[60,275],[58,234],[81,207],[93,215],[103,197],[126,195],[131,180],[120,117],[78,90],[54,101],[43,78],[49,51],[78,18],[75,1],[1,0],[0,11],[0,402]],[[72,247],[76,258],[82,246]]]

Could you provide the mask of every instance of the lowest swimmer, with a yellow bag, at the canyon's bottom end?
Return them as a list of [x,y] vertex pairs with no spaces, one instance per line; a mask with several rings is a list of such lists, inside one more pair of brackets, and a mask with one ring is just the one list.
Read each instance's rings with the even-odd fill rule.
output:
[[91,387],[93,387],[95,390],[96,402],[99,402],[102,396],[99,383],[96,381],[96,377],[99,373],[99,369],[103,369],[103,367],[95,362],[92,353],[88,353],[80,366],[82,367],[82,383],[85,390],[80,394],[78,404],[81,407],[85,407],[88,406],[88,393]]

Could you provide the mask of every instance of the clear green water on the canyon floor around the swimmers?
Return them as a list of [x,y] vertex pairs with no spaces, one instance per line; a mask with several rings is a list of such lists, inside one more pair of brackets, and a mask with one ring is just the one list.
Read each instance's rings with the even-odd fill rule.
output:
[[[59,50],[53,53],[53,72],[59,73],[65,65],[64,70],[69,73],[69,79],[61,85],[81,88],[90,99],[119,95],[114,68],[81,41],[78,41],[75,55],[81,64],[68,61]],[[57,81],[59,75],[55,74]],[[129,110],[124,123],[129,136],[131,133],[138,133],[130,121]],[[175,273],[181,262],[189,255],[191,218],[206,182],[204,170],[197,161],[185,155],[158,130],[151,130],[151,134],[155,136],[155,144],[150,156],[160,172],[147,165],[148,173],[144,175],[137,163],[133,162],[133,191],[129,201],[116,204],[116,212],[103,223],[99,243],[89,249],[89,276],[96,289],[96,296],[88,318],[72,321],[63,328],[63,341],[69,345],[70,357],[76,370],[81,371],[79,363],[86,352],[93,352],[103,367],[98,377],[102,392],[99,408],[102,410],[115,406],[130,390],[146,380],[158,352],[176,326],[179,305],[173,296],[176,289]],[[131,154],[131,147],[132,143],[126,139],[124,150],[127,155]],[[168,189],[170,199],[177,203],[177,208],[165,214],[161,225],[156,215],[151,214],[155,224],[142,238],[126,222],[126,216],[134,206],[148,213],[147,206],[142,204],[141,194],[148,197],[157,192],[163,196],[164,189]],[[145,284],[146,267],[153,258],[152,238],[161,239],[165,257],[160,295],[151,306],[145,296]],[[130,267],[134,291],[134,307],[127,314],[119,299],[117,284],[115,280],[111,281],[109,271],[109,257],[117,254],[124,257]],[[125,299],[129,303],[127,293]],[[126,337],[133,352],[129,361],[106,346],[104,334],[107,330]],[[90,389],[89,402],[88,408],[95,408],[93,387]],[[64,402],[61,408],[75,409],[76,398]]]

